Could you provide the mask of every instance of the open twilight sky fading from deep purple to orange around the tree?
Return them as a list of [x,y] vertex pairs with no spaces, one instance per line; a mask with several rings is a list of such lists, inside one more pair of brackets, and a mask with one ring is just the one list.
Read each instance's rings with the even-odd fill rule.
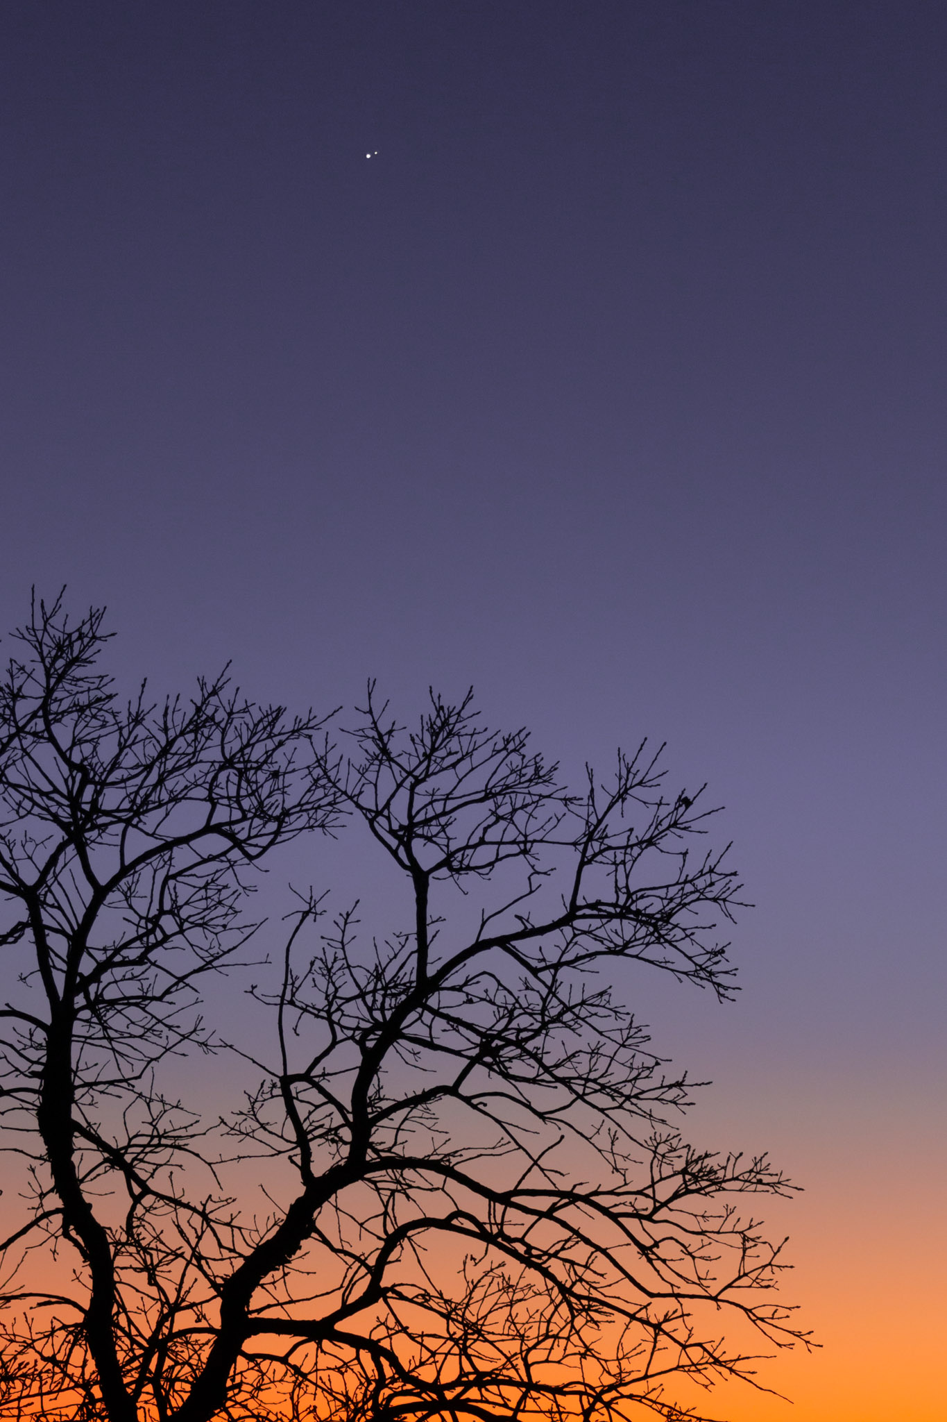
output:
[[946,68],[926,0],[0,16],[3,627],[710,782],[743,993],[643,1012],[822,1344],[733,1422],[943,1415]]

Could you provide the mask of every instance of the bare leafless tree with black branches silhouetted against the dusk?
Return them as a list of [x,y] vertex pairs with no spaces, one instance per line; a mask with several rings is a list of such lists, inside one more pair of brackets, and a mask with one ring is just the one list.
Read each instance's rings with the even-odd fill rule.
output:
[[[642,745],[568,793],[470,697],[406,731],[369,688],[339,754],[226,677],[124,704],[101,611],[38,604],[17,636],[0,1416],[677,1418],[674,1375],[751,1371],[726,1315],[802,1337],[738,1209],[787,1183],[681,1140],[689,1086],[628,1007],[647,966],[733,991],[714,921],[738,884],[694,849],[701,792],[667,798]],[[229,1045],[214,993],[248,971],[256,866],[342,825],[409,921],[363,941],[358,906],[297,897],[247,988],[271,1041]],[[253,1076],[230,1111],[175,1089],[200,1052]]]

